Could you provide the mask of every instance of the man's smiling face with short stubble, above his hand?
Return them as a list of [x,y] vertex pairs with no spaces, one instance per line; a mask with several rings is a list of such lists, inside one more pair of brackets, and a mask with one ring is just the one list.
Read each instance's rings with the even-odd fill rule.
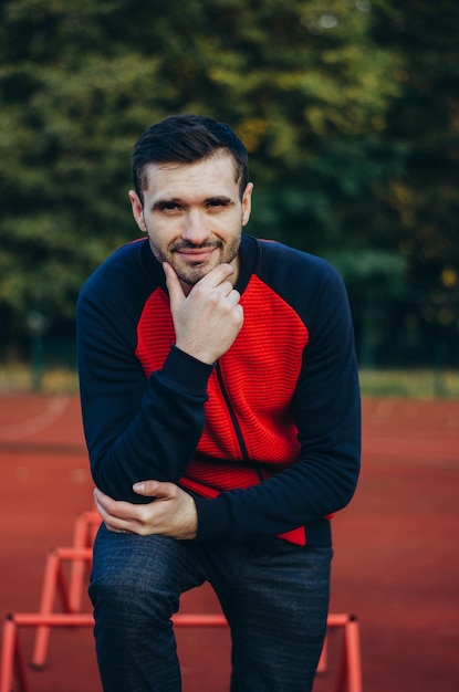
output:
[[247,186],[241,200],[231,155],[219,151],[194,164],[150,164],[146,172],[144,203],[134,191],[129,198],[155,258],[171,264],[188,290],[223,262],[232,263],[236,281],[253,186]]

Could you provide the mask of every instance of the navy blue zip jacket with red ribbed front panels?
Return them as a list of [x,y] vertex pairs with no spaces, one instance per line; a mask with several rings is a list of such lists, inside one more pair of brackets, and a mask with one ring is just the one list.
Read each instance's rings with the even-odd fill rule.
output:
[[108,258],[77,305],[83,423],[95,484],[147,502],[179,483],[198,541],[282,535],[330,545],[353,496],[361,408],[343,282],[324,260],[243,237],[243,327],[215,366],[175,347],[164,272],[146,239]]

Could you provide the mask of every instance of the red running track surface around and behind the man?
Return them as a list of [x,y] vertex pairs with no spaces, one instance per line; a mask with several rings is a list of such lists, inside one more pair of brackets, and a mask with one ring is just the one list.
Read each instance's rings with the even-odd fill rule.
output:
[[[333,520],[333,612],[361,622],[365,692],[459,690],[459,401],[366,399],[363,470]],[[0,610],[35,611],[44,558],[92,507],[70,396],[0,396]],[[87,609],[90,609],[87,605]],[[218,611],[207,587],[182,611]],[[21,630],[30,658],[33,632]],[[336,635],[337,637],[337,635]],[[228,690],[227,630],[178,630],[184,692]],[[333,688],[328,671],[314,692]],[[101,692],[90,629],[54,630],[33,692]],[[127,692],[127,691],[126,691]]]

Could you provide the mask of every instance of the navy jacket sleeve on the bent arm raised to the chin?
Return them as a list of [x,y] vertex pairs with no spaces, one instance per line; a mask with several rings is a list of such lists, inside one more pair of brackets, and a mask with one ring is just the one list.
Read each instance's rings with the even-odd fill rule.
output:
[[115,282],[91,277],[77,303],[77,354],[94,482],[116,500],[142,503],[148,499],[133,492],[134,482],[184,474],[202,432],[212,368],[173,346],[163,369],[146,378],[133,312]]

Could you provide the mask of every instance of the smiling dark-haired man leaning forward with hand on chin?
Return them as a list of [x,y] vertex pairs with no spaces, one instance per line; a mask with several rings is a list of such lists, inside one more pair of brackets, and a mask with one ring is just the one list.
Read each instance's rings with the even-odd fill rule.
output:
[[170,617],[206,580],[231,628],[232,692],[311,689],[330,515],[359,464],[345,290],[323,260],[241,237],[252,184],[228,126],[166,118],[133,174],[146,238],[88,279],[77,308],[104,690],[180,690]]

